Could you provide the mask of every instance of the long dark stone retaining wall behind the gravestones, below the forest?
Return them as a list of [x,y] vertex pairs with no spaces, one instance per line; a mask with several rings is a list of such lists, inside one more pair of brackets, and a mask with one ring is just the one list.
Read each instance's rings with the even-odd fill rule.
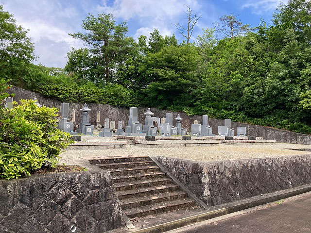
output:
[[[13,86],[10,88],[9,93],[15,93],[14,100],[20,99],[34,99],[37,98],[40,104],[46,105],[48,107],[57,107],[60,108],[61,101],[56,99],[51,99],[44,97],[38,93],[31,92],[19,87]],[[71,109],[75,109],[75,120],[77,123],[81,121],[80,111],[83,103],[70,103],[69,104],[69,115],[71,115]],[[118,121],[123,121],[124,125],[127,125],[128,117],[130,115],[130,110],[128,107],[119,107],[112,106],[109,104],[97,104],[97,103],[88,103],[88,107],[91,109],[90,112],[90,122],[93,125],[96,125],[96,112],[99,110],[101,112],[101,123],[104,125],[104,118],[110,118],[110,120],[114,120],[116,122],[116,126],[118,125]],[[135,107],[135,106],[133,106]],[[146,108],[138,108],[138,120],[141,123],[144,123],[144,115],[143,113],[146,111]],[[182,126],[191,129],[191,124],[193,124],[194,120],[198,120],[199,123],[202,123],[202,116],[188,116],[183,112],[172,112],[163,109],[151,108],[151,111],[155,113],[154,116],[157,117],[165,117],[166,113],[172,113],[173,118],[180,114],[182,120]],[[173,124],[175,125],[175,120],[173,120]],[[218,133],[218,126],[224,125],[225,120],[222,119],[209,119],[209,125],[213,127],[213,133]],[[245,126],[247,128],[247,134],[253,136],[263,137],[263,139],[276,140],[276,142],[284,142],[284,143],[298,143],[298,144],[311,144],[311,135],[294,133],[284,130],[279,130],[275,128],[263,127],[258,125],[250,125],[240,122],[232,122],[231,126],[234,129],[235,135],[237,134],[238,126]]]

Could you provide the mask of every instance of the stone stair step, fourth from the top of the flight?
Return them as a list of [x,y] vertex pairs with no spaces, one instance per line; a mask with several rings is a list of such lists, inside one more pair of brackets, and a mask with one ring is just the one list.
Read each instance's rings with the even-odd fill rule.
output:
[[161,171],[153,171],[149,173],[137,173],[137,174],[128,174],[121,176],[113,176],[113,183],[121,182],[134,182],[134,181],[144,181],[149,179],[164,178],[165,173]]

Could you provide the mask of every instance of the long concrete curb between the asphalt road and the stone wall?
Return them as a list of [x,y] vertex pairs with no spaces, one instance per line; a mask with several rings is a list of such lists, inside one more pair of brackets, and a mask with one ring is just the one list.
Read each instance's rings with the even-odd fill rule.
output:
[[[184,227],[193,223],[208,220],[214,217],[224,216],[244,209],[252,208],[255,206],[267,204],[276,200],[281,200],[303,194],[311,191],[311,184],[290,188],[287,190],[268,193],[249,199],[226,203],[219,206],[209,208],[207,212],[195,216],[189,216],[182,219],[174,220],[164,224],[139,229],[137,231],[130,231],[131,233],[163,233],[180,227]],[[132,229],[134,230],[134,229]]]

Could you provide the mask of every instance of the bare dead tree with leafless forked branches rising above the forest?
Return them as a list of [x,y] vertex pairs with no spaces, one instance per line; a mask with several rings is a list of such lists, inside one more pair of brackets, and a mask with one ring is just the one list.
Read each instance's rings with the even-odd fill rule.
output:
[[190,37],[194,30],[194,25],[202,15],[198,17],[195,13],[192,12],[190,5],[185,4],[185,6],[187,7],[187,11],[185,12],[187,16],[186,19],[188,20],[187,27],[185,28],[179,23],[174,23],[174,25],[176,26],[177,30],[186,38],[187,44],[189,44]]

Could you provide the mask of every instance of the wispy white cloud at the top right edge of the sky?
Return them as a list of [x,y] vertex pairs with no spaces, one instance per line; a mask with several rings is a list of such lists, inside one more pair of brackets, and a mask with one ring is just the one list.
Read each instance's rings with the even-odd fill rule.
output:
[[280,3],[287,3],[288,0],[247,0],[242,8],[252,8],[254,14],[261,15],[267,11],[273,11]]

